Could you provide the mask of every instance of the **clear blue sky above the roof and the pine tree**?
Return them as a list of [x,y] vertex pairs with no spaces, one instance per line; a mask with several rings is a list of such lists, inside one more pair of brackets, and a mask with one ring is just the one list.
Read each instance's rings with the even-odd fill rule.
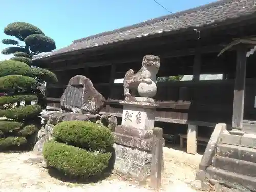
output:
[[[214,0],[158,0],[169,11],[204,5]],[[8,38],[4,27],[11,22],[28,22],[56,42],[57,49],[75,39],[132,25],[169,14],[153,0],[8,0],[1,1],[0,39]],[[0,42],[0,51],[7,47]],[[0,60],[10,56],[0,54]]]

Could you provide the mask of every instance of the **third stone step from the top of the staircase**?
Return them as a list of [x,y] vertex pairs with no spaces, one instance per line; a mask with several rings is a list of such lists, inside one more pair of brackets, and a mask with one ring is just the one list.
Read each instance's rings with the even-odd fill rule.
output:
[[212,160],[212,166],[229,172],[256,177],[256,163],[253,162],[215,156]]

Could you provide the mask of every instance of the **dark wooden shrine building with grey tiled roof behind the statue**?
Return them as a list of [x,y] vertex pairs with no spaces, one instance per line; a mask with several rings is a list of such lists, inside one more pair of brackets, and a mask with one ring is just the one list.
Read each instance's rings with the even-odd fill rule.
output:
[[[130,68],[138,71],[144,55],[157,55],[159,77],[193,74],[193,80],[158,82],[155,120],[188,125],[187,143],[196,143],[198,127],[226,123],[230,129],[241,130],[243,122],[244,127],[256,122],[256,59],[255,55],[246,58],[251,47],[234,46],[217,57],[233,39],[256,35],[255,11],[252,0],[218,1],[75,40],[68,47],[35,57],[33,65],[49,68],[59,79],[57,84],[47,84],[49,105],[59,104],[71,77],[85,75],[108,98],[101,114],[121,117],[123,86],[114,80],[123,78]],[[200,74],[223,74],[223,79],[199,81]],[[253,128],[244,131],[254,133]],[[187,151],[196,153],[196,146],[189,144]]]

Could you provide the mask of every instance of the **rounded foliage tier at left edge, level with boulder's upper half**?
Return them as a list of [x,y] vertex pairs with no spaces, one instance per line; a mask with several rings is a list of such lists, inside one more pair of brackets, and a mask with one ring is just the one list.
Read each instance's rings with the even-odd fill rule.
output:
[[17,91],[36,87],[37,81],[34,78],[23,75],[7,75],[0,77],[0,91]]

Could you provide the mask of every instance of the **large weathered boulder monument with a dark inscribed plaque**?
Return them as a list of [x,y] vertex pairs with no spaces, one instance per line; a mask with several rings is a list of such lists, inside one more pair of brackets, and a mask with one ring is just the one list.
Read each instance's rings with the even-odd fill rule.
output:
[[90,114],[98,113],[104,103],[105,98],[94,88],[92,81],[82,75],[70,79],[60,99],[62,109]]

